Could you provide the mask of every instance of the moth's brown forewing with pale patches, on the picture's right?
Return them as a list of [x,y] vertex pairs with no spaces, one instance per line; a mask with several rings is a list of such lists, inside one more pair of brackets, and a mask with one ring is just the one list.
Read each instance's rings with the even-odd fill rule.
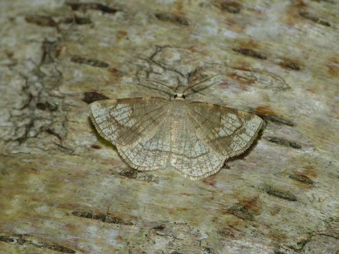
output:
[[195,130],[225,160],[243,153],[253,143],[262,125],[259,116],[244,111],[202,102],[188,105]]

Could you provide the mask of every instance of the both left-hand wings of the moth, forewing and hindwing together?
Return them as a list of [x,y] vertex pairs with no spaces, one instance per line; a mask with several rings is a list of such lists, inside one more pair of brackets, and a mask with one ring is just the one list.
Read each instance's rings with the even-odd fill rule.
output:
[[170,124],[166,105],[157,97],[97,101],[89,105],[98,133],[112,142],[132,168],[166,167],[170,152]]

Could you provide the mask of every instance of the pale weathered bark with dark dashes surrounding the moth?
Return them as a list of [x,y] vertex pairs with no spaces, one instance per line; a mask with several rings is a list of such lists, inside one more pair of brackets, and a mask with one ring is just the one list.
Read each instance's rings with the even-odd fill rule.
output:
[[[338,253],[339,2],[0,2],[0,252]],[[192,181],[135,172],[88,103],[167,97],[260,115]]]

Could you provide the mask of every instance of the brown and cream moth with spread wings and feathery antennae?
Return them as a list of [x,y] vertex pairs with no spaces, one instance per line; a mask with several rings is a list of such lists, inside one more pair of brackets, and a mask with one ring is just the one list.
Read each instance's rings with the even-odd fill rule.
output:
[[206,178],[218,172],[228,158],[247,150],[263,123],[259,116],[241,110],[187,103],[185,91],[208,79],[182,93],[155,81],[175,92],[172,99],[96,101],[89,105],[90,118],[130,167],[149,171],[173,166],[191,179]]

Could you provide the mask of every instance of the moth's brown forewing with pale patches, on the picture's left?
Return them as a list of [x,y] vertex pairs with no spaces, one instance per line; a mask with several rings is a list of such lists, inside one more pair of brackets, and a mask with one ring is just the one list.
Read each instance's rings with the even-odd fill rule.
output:
[[90,118],[104,139],[127,146],[155,128],[167,103],[155,97],[96,101],[89,105]]

